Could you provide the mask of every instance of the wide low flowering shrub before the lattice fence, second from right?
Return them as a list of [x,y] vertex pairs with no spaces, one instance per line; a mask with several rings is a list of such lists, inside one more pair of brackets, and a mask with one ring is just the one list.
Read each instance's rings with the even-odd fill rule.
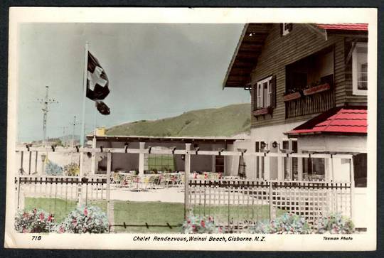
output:
[[257,222],[247,228],[252,234],[309,234],[311,227],[304,217],[292,213],[284,213],[274,220]]

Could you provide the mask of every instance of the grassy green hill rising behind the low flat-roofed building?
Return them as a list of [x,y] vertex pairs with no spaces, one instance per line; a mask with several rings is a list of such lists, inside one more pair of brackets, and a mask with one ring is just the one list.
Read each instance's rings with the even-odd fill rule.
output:
[[198,109],[177,117],[141,120],[111,127],[107,135],[233,136],[250,131],[250,104]]

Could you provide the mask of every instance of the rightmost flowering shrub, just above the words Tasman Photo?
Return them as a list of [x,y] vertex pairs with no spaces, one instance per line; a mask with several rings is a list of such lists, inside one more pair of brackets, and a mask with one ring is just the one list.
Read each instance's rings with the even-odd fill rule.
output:
[[331,234],[352,234],[355,226],[349,217],[340,213],[332,213],[327,217],[322,217],[317,224],[317,232]]

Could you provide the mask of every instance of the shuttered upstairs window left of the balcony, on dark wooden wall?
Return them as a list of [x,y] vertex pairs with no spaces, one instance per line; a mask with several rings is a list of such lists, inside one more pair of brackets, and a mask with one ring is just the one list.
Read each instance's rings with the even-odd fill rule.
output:
[[256,109],[272,107],[274,104],[274,83],[272,76],[260,80],[256,84]]

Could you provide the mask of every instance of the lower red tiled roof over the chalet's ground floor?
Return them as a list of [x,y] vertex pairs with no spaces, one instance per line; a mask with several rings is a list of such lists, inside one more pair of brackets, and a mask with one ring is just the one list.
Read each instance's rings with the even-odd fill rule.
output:
[[320,114],[288,131],[288,135],[303,134],[366,134],[366,107],[342,107]]

